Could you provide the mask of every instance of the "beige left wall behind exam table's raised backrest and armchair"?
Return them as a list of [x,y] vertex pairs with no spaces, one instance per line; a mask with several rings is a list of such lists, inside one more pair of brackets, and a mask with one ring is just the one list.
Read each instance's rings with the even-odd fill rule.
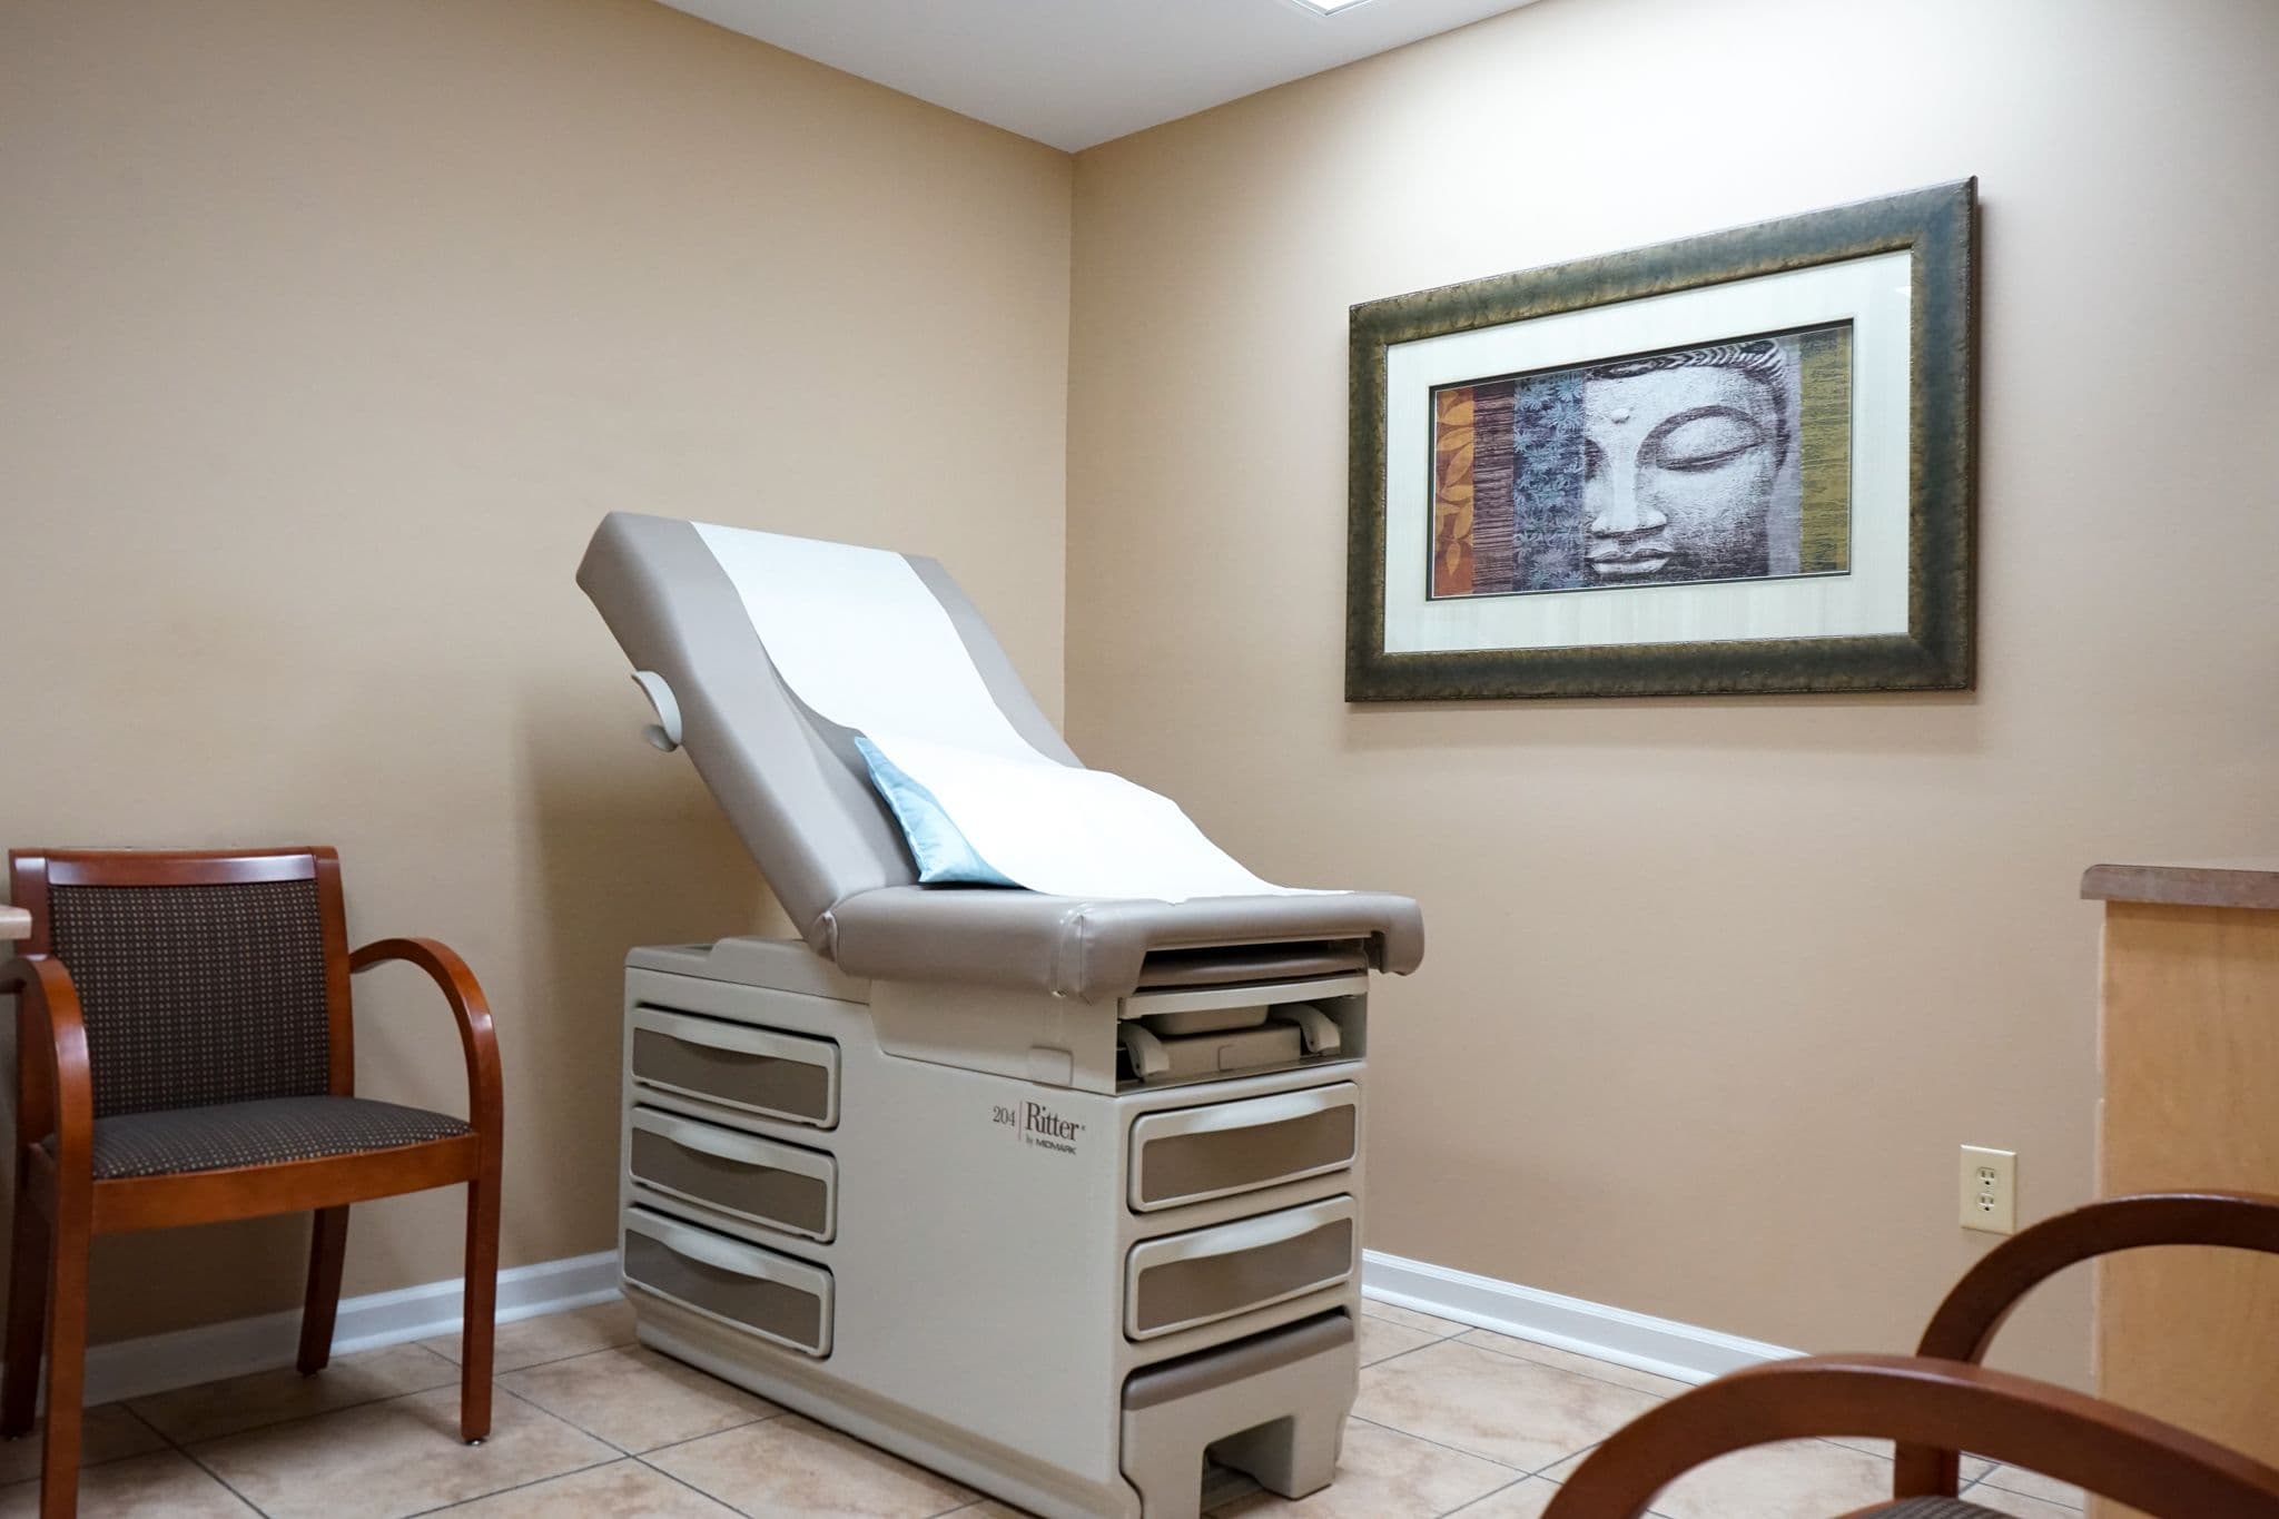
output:
[[[506,1262],[606,1248],[618,972],[757,875],[572,585],[640,508],[939,553],[1062,672],[1069,159],[647,0],[0,11],[0,843],[340,845],[506,1057]],[[412,972],[362,1089],[458,1107]],[[98,1248],[96,1332],[301,1221]],[[349,1291],[458,1273],[360,1209]]]

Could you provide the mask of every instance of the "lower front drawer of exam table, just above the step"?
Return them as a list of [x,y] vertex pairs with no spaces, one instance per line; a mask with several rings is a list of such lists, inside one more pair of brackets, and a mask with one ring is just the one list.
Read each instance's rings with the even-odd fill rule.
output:
[[1354,1200],[1142,1239],[1124,1264],[1124,1332],[1153,1339],[1247,1314],[1354,1275]]

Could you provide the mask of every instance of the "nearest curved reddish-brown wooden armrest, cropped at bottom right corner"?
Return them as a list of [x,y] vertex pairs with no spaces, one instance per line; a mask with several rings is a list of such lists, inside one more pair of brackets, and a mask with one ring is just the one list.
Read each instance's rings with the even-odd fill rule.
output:
[[1639,1519],[1702,1462],[1830,1435],[1969,1446],[2170,1519],[2279,1519],[2279,1471],[2238,1451],[2065,1387],[1912,1355],[1769,1362],[1680,1394],[1593,1451],[1543,1519]]

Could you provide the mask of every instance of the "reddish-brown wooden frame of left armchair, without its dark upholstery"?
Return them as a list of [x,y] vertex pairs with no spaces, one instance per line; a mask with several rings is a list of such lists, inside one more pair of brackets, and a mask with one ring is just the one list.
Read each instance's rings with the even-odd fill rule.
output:
[[[16,1237],[7,1294],[0,1435],[32,1430],[46,1335],[48,1426],[41,1519],[77,1505],[80,1401],[87,1360],[87,1257],[96,1234],[315,1212],[301,1309],[303,1373],[333,1353],[349,1205],[428,1187],[467,1184],[465,1344],[460,1437],[490,1432],[490,1350],[499,1278],[499,1143],[504,1100],[490,1007],[467,963],[433,938],[383,938],[349,952],[340,856],[328,847],[230,852],[18,849],[9,854],[16,906],[32,913],[21,954],[0,966],[16,993]],[[442,991],[467,1057],[469,1134],[326,1159],[93,1180],[93,1086],[87,1029],[68,968],[50,952],[52,886],[217,886],[315,881],[324,941],[328,1091],[356,1095],[351,975],[410,961]],[[55,1136],[50,1155],[46,1141]]]

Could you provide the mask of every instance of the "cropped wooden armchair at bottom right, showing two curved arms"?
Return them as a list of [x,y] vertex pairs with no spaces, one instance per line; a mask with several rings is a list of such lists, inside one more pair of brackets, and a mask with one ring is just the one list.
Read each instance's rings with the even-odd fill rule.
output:
[[1707,1460],[1828,1435],[1898,1442],[1892,1503],[1851,1519],[2001,1519],[1955,1496],[1962,1451],[2078,1483],[2163,1519],[2279,1519],[2279,1469],[2113,1403],[1978,1364],[2037,1282],[2145,1246],[2279,1255],[2279,1198],[2151,1193],[2037,1223],[1946,1294],[1917,1355],[1814,1355],[1696,1387],[1593,1451],[1545,1519],[1639,1519],[1655,1494]]

